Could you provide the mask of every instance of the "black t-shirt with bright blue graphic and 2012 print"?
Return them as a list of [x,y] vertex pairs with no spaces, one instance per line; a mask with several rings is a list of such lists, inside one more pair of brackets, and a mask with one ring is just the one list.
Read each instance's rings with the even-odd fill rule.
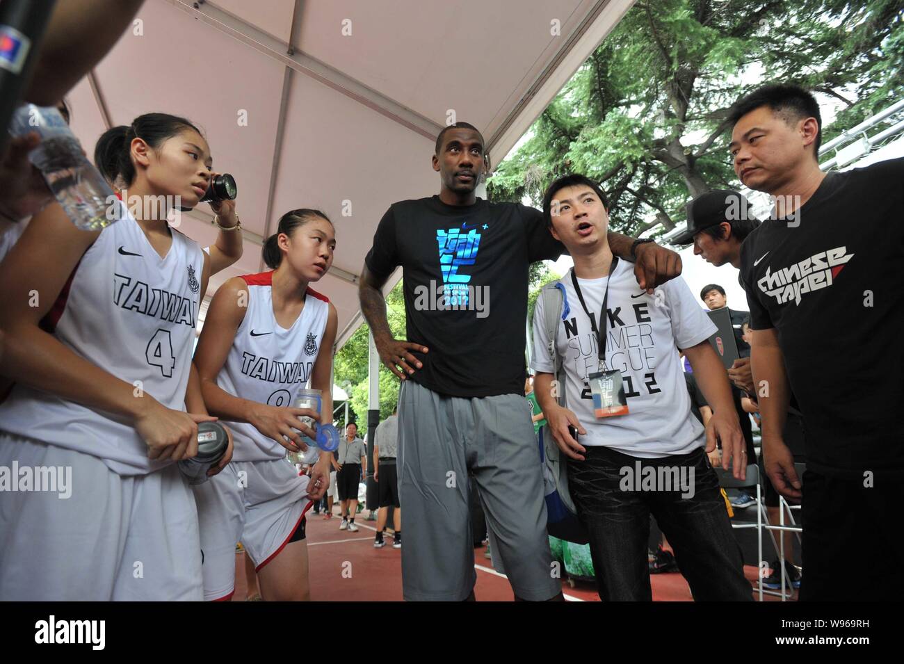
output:
[[451,397],[523,394],[528,270],[563,250],[519,203],[393,203],[364,260],[375,276],[403,269],[408,340],[428,348],[410,379]]

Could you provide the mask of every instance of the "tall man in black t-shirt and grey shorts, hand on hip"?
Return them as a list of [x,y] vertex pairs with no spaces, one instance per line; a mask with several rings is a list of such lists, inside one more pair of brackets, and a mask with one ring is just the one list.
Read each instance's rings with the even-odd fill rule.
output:
[[[524,408],[528,269],[555,258],[540,210],[476,198],[489,168],[474,126],[438,136],[438,196],[400,201],[383,215],[364,260],[361,307],[399,396],[400,501],[407,600],[473,599],[468,472],[516,599],[561,599],[551,574],[540,456]],[[677,276],[677,254],[609,235],[634,260],[641,287]],[[407,341],[393,339],[382,287],[404,269]],[[408,380],[407,378],[410,378]]]

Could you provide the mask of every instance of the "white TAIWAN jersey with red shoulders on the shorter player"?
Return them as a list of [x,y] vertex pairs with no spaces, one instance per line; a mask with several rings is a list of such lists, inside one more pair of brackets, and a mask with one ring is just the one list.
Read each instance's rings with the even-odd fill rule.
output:
[[[329,314],[329,299],[307,289],[305,306],[288,330],[273,315],[273,271],[242,276],[248,285],[248,311],[217,385],[231,395],[270,406],[291,407],[299,388],[311,379]],[[327,349],[326,352],[330,352]],[[286,448],[254,426],[231,422],[232,461],[282,459]]]

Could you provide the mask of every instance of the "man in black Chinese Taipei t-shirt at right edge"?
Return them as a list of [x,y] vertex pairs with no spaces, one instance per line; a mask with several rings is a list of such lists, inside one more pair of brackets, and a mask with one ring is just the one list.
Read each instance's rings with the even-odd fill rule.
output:
[[[898,600],[904,159],[823,173],[819,106],[794,86],[741,98],[730,122],[735,173],[776,201],[741,247],[741,276],[766,470],[791,498],[801,482],[782,437],[789,387],[807,425],[801,599]],[[880,558],[835,581],[838,564]]]

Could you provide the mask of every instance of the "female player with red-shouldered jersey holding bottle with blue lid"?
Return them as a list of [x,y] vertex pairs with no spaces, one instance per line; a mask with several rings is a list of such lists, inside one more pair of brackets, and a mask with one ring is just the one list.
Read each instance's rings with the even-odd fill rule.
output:
[[[207,310],[194,362],[208,410],[235,423],[235,454],[194,488],[205,599],[231,597],[237,541],[257,568],[263,599],[308,599],[304,515],[329,484],[332,454],[320,453],[309,479],[298,476],[286,450],[300,449],[298,431],[315,436],[299,416],[333,420],[336,311],[308,284],[324,276],[334,248],[323,212],[292,210],[264,245],[274,269],[230,279]],[[321,413],[292,407],[308,381],[321,390]]]

